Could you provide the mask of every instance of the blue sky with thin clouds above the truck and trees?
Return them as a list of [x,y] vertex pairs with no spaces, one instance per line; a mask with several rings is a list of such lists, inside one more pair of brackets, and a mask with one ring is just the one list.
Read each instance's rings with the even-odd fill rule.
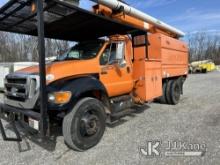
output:
[[[125,0],[136,7],[186,33],[207,31],[220,35],[220,0]],[[0,6],[7,0],[0,0]],[[81,6],[93,3],[81,0]]]

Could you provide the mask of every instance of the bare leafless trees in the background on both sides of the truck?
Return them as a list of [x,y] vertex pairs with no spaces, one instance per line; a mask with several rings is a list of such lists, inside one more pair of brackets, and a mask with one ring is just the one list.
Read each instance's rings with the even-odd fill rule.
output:
[[[212,59],[220,64],[220,36],[205,32],[188,34],[189,60]],[[68,41],[45,40],[46,56],[57,56],[70,47]],[[0,62],[38,61],[38,42],[33,36],[0,32]]]

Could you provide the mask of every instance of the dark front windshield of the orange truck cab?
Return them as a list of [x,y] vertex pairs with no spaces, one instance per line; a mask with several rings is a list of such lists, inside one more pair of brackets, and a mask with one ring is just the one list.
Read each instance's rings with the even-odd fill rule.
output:
[[57,61],[86,60],[96,57],[104,41],[80,42],[69,49],[66,53],[57,57]]

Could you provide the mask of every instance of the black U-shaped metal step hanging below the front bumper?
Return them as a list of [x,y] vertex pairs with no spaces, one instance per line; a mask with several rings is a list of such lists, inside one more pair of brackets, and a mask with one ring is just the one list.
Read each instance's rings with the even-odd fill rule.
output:
[[13,127],[14,132],[15,132],[16,138],[9,138],[9,137],[6,136],[5,129],[4,129],[3,124],[2,124],[2,120],[0,119],[0,130],[1,130],[3,140],[4,141],[21,142],[22,139],[21,139],[20,133],[18,132],[18,129],[15,125],[15,120],[11,121],[11,125]]

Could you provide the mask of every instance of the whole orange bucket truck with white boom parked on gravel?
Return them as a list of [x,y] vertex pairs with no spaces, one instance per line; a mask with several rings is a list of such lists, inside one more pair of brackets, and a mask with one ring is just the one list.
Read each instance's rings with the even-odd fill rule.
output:
[[[62,121],[69,147],[85,151],[95,146],[106,123],[134,105],[153,100],[179,103],[188,74],[183,32],[117,0],[96,0],[93,12],[59,0],[49,2],[45,17],[57,20],[45,24],[45,36],[78,41],[45,66],[47,125]],[[18,25],[10,32],[37,35],[28,31],[32,24]],[[0,30],[9,31],[1,23]],[[40,74],[33,66],[6,76],[1,116],[41,129]]]

